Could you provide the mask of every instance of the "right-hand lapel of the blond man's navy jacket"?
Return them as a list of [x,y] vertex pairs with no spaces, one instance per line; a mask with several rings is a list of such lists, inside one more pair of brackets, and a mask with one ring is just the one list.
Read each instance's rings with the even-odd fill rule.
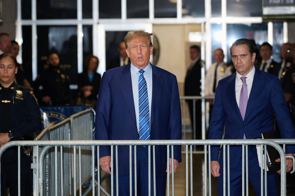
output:
[[151,125],[153,123],[155,117],[155,111],[159,104],[159,100],[161,97],[161,91],[163,86],[163,79],[160,78],[161,74],[156,69],[155,66],[151,66],[152,68],[152,100],[151,100]]

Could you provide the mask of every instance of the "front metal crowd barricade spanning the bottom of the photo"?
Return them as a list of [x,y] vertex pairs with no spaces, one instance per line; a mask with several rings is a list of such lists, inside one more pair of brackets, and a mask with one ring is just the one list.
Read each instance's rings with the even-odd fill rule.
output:
[[[284,144],[295,144],[295,139],[288,139],[288,140],[280,140],[281,143],[284,143]],[[193,154],[193,151],[192,151],[192,146],[193,145],[204,145],[204,149],[205,149],[205,152],[207,152],[208,150],[208,153],[204,153],[204,171],[205,171],[205,175],[204,175],[204,178],[205,178],[205,181],[204,181],[204,195],[206,196],[207,195],[207,192],[209,195],[211,195],[211,175],[210,175],[210,164],[209,164],[209,167],[207,167],[207,163],[209,162],[210,163],[210,147],[211,145],[223,145],[223,173],[225,173],[226,171],[226,150],[227,150],[227,156],[229,157],[229,149],[230,149],[230,145],[242,145],[242,195],[244,196],[245,195],[245,177],[246,179],[248,178],[248,167],[246,167],[246,176],[244,175],[245,173],[245,164],[247,166],[248,164],[248,156],[247,156],[247,153],[248,153],[248,145],[261,145],[261,147],[265,147],[266,145],[270,145],[270,146],[273,146],[275,149],[277,149],[277,151],[279,152],[280,154],[280,158],[281,158],[281,195],[282,196],[285,196],[286,195],[286,157],[285,157],[285,153],[283,151],[283,149],[281,148],[281,146],[279,144],[277,144],[276,142],[274,141],[271,141],[271,140],[265,140],[265,139],[261,139],[261,140],[257,140],[257,139],[239,139],[239,140],[149,140],[149,141],[140,141],[140,140],[108,140],[108,141],[87,141],[87,140],[76,140],[76,141],[12,141],[12,142],[8,142],[6,143],[5,145],[3,145],[1,148],[0,148],[0,160],[1,160],[1,156],[2,156],[2,153],[9,147],[12,147],[12,146],[18,146],[18,163],[19,163],[19,166],[21,164],[20,162],[20,146],[22,145],[33,145],[33,146],[36,146],[37,148],[39,148],[39,146],[44,146],[44,148],[41,150],[41,152],[37,151],[36,152],[36,158],[34,159],[34,162],[33,162],[33,165],[35,165],[35,168],[36,170],[38,171],[37,172],[37,179],[38,179],[38,183],[39,183],[39,187],[37,188],[37,190],[34,190],[34,192],[37,192],[38,195],[40,196],[43,196],[45,195],[44,194],[44,187],[45,187],[45,184],[42,183],[44,182],[44,179],[45,179],[45,176],[44,176],[44,170],[46,169],[46,164],[44,164],[44,157],[46,156],[46,153],[49,149],[53,148],[55,149],[54,151],[54,156],[55,156],[55,164],[54,164],[54,182],[55,182],[55,185],[59,185],[59,184],[65,184],[64,182],[64,179],[62,178],[63,175],[59,175],[58,173],[60,172],[61,174],[65,171],[61,171],[59,170],[59,167],[62,167],[65,165],[65,163],[63,162],[64,159],[60,159],[59,161],[60,162],[57,162],[57,157],[58,157],[58,147],[61,149],[61,152],[62,152],[62,149],[65,148],[65,147],[71,147],[71,146],[79,146],[79,149],[78,149],[78,153],[81,154],[81,146],[91,146],[92,147],[92,164],[91,164],[91,171],[92,171],[92,176],[94,176],[94,172],[95,172],[95,167],[94,167],[94,155],[95,155],[95,146],[97,147],[97,157],[99,157],[99,146],[103,145],[109,145],[111,146],[111,172],[112,172],[112,175],[111,175],[111,193],[112,195],[114,195],[114,190],[116,188],[116,190],[118,190],[118,187],[119,187],[119,184],[116,183],[116,187],[114,187],[114,184],[113,184],[113,179],[116,179],[116,182],[118,182],[118,159],[116,159],[116,161],[114,161],[114,156],[118,156],[118,146],[129,146],[129,163],[130,165],[132,165],[132,161],[136,161],[136,151],[134,151],[134,160],[132,160],[132,147],[136,149],[136,146],[140,146],[140,145],[145,145],[145,146],[148,146],[148,159],[149,159],[149,163],[148,163],[148,195],[151,195],[151,192],[153,191],[154,192],[154,195],[156,195],[156,184],[155,184],[155,180],[153,181],[153,187],[154,187],[154,190],[151,190],[151,178],[155,179],[155,150],[153,150],[153,153],[152,153],[152,160],[153,160],[153,168],[154,168],[154,172],[153,172],[153,176],[151,176],[151,148],[155,149],[155,145],[163,145],[163,146],[167,146],[167,154],[170,154],[169,150],[170,150],[170,146],[171,146],[171,158],[173,159],[174,158],[174,152],[173,152],[173,146],[175,145],[184,145],[185,146],[185,165],[186,165],[186,195],[193,195],[193,163],[192,163],[192,154]],[[115,150],[114,148],[115,147]],[[190,150],[189,150],[190,148]],[[245,150],[246,149],[246,150]],[[263,151],[262,151],[263,148],[261,148],[261,160],[263,159]],[[76,155],[76,148],[73,148],[73,151],[74,151],[74,155]],[[115,151],[115,152],[114,152]],[[190,155],[189,155],[190,153]],[[245,154],[246,153],[246,154]],[[62,154],[62,153],[61,153]],[[265,159],[266,159],[266,153],[265,154]],[[246,158],[244,158],[244,155],[246,155]],[[190,156],[190,174],[189,174],[189,156]],[[127,158],[127,157],[126,157]],[[128,160],[128,159],[126,159]],[[208,160],[208,162],[207,162]],[[79,160],[77,161],[76,160],[76,156],[73,156],[73,161],[74,161],[74,164],[78,163],[79,165],[79,171],[77,171],[77,167],[73,167],[73,172],[74,173],[78,173],[79,175],[79,182],[81,182],[81,156],[79,156]],[[262,161],[263,162],[263,161]],[[169,171],[169,156],[167,156],[167,171]],[[136,165],[136,164],[135,164]],[[293,162],[293,166],[294,166],[294,162]],[[116,176],[114,176],[114,173],[113,173],[113,168],[116,167]],[[172,161],[172,165],[171,167],[173,168],[173,161]],[[266,162],[265,162],[265,167],[266,167]],[[0,168],[1,168],[1,163],[0,163]],[[229,158],[227,159],[227,169],[230,168],[230,161],[229,161]],[[293,167],[294,168],[294,167]],[[134,169],[135,170],[135,176],[136,176],[136,168]],[[129,174],[130,176],[132,176],[132,167],[129,168]],[[1,174],[1,171],[0,171],[0,174]],[[229,186],[229,179],[230,179],[230,172],[229,170],[227,171],[227,175],[228,175],[228,190],[230,190],[230,186]],[[75,177],[76,175],[74,175]],[[172,188],[172,195],[174,196],[174,173],[173,173],[173,169],[172,169],[172,184],[171,184],[171,188]],[[190,176],[190,190],[189,190],[189,178]],[[207,176],[209,176],[209,178],[207,178]],[[223,195],[225,195],[225,191],[226,191],[226,175],[224,175],[224,178],[223,178]],[[267,191],[266,189],[266,186],[265,186],[265,189],[263,189],[263,179],[265,179],[265,182],[266,182],[266,172],[265,174],[263,174],[263,168],[261,169],[261,192],[262,192],[262,195],[263,195],[263,192]],[[20,188],[20,184],[21,184],[21,181],[20,181],[20,167],[18,167],[18,187]],[[75,181],[74,181],[75,182]],[[94,187],[95,187],[95,184],[94,184],[94,180],[92,181],[92,195],[95,195],[95,191],[94,191]],[[209,183],[209,190],[207,190],[207,183]],[[134,184],[132,184],[132,180],[130,180],[129,182],[129,186],[130,186],[130,190],[132,190],[132,187],[135,186],[135,195],[136,195],[136,181]],[[81,184],[80,184],[81,186]],[[98,183],[98,190],[100,188],[100,184]],[[1,190],[1,183],[0,183],[0,190]],[[20,189],[18,189],[19,192],[18,192],[18,195],[20,195]],[[59,192],[61,191],[61,192]],[[63,190],[62,189],[59,189],[59,187],[55,187],[55,190],[54,190],[54,193],[51,193],[50,195],[67,195],[65,192],[62,192]],[[76,189],[75,187],[73,187],[73,195],[76,196],[77,193],[76,193]],[[99,193],[100,191],[98,191],[97,195],[100,195]],[[190,192],[190,194],[189,194]],[[81,193],[80,193],[81,195]],[[116,195],[118,195],[118,191],[116,191]],[[132,195],[132,191],[131,191],[131,194]],[[169,172],[167,173],[167,195],[170,195],[170,175],[169,175]],[[229,194],[228,194],[229,195]],[[246,180],[246,195],[248,195],[248,181]]]

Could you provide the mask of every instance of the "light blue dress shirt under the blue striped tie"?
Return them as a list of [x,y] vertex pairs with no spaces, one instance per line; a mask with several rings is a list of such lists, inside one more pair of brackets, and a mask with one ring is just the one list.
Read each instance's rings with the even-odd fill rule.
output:
[[[138,77],[140,73],[138,72],[139,69],[132,65],[130,66],[131,72],[131,82],[132,82],[132,92],[133,92],[133,101],[134,101],[134,108],[135,108],[135,116],[136,116],[136,126],[137,131],[139,132],[139,100],[138,100]],[[152,98],[152,69],[151,64],[149,63],[148,66],[144,68],[144,79],[147,81],[147,88],[148,88],[148,109],[150,112],[150,126],[151,126],[151,98]]]

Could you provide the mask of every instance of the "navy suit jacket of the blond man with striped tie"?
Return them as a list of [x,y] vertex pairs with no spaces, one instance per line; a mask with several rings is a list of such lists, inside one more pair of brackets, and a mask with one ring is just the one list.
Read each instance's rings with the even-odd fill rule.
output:
[[[181,139],[181,110],[176,77],[159,67],[152,65],[151,68],[150,139]],[[130,63],[104,72],[96,104],[95,130],[96,140],[138,139]],[[156,175],[164,176],[167,146],[156,146],[155,152]],[[110,147],[100,147],[100,157],[108,155],[111,155]],[[181,162],[180,146],[174,147],[174,159]],[[118,160],[118,174],[129,174],[129,146],[118,147]]]

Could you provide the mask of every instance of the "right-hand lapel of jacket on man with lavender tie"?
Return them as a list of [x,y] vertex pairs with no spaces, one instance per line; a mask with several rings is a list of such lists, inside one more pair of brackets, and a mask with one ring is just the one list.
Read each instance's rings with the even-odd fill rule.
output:
[[255,100],[258,99],[258,97],[261,95],[261,92],[264,89],[265,86],[265,82],[260,74],[260,70],[255,67],[255,74],[254,74],[254,78],[253,78],[253,83],[252,83],[252,88],[250,91],[250,96],[249,96],[249,100],[247,102],[247,107],[246,107],[246,114],[245,114],[245,118],[244,121],[247,120],[247,117],[250,115],[251,110],[253,109],[254,105],[255,105]]

